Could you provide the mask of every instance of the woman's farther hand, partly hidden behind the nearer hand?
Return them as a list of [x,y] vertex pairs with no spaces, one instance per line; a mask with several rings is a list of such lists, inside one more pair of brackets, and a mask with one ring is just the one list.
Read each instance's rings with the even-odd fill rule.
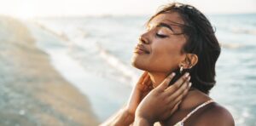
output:
[[132,89],[130,99],[126,106],[126,111],[129,112],[131,116],[135,117],[137,106],[152,89],[153,87],[148,72],[144,72]]

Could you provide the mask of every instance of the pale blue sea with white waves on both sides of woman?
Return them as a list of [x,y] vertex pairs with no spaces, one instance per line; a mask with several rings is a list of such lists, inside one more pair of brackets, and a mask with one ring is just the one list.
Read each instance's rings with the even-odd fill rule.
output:
[[[149,16],[88,16],[26,21],[38,47],[67,81],[90,99],[104,121],[125,104],[142,73],[132,50]],[[208,15],[222,45],[210,96],[237,126],[256,125],[256,14]]]

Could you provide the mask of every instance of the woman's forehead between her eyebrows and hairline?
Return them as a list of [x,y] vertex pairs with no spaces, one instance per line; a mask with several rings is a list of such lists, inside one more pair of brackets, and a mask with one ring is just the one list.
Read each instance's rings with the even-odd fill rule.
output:
[[158,14],[155,16],[152,20],[148,22],[148,26],[150,24],[158,24],[160,22],[166,22],[168,24],[175,22],[179,24],[184,24],[184,21],[180,14],[177,12],[172,12],[172,13],[164,13],[164,14]]

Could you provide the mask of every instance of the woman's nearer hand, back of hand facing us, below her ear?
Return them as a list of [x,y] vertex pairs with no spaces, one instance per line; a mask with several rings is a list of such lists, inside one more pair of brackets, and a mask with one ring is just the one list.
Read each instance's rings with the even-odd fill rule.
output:
[[160,85],[153,89],[139,104],[136,110],[135,124],[137,120],[143,120],[153,124],[170,117],[178,108],[183,97],[188,93],[189,73],[179,78],[176,83],[168,87],[168,83],[174,77],[174,73],[166,77]]

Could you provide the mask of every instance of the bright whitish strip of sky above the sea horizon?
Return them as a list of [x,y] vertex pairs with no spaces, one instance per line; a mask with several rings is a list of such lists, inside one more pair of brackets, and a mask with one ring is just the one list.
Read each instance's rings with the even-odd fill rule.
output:
[[[20,18],[154,14],[173,0],[0,0],[0,14]],[[256,13],[256,0],[176,0],[206,14]]]

